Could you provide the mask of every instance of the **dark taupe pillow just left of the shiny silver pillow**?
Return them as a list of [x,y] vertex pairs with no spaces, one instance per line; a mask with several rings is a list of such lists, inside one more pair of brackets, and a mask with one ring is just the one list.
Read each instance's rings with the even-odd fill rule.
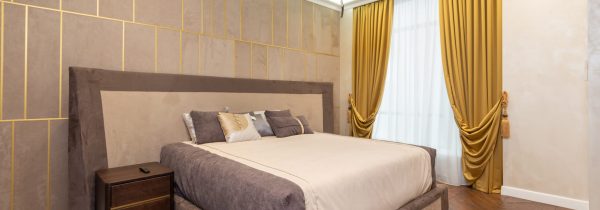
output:
[[219,112],[192,111],[192,121],[196,131],[196,143],[225,142],[225,134],[217,118]]

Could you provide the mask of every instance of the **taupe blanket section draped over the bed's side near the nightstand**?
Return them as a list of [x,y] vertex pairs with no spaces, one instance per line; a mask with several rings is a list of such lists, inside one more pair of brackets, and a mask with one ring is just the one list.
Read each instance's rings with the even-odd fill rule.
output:
[[201,148],[166,145],[160,162],[175,172],[177,191],[204,210],[305,209],[295,183]]

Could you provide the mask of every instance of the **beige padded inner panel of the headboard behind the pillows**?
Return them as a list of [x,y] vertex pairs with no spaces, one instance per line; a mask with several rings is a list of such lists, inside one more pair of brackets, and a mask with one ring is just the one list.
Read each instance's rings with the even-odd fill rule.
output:
[[323,131],[321,94],[101,91],[108,167],[159,161],[163,145],[189,140],[181,114],[290,109]]

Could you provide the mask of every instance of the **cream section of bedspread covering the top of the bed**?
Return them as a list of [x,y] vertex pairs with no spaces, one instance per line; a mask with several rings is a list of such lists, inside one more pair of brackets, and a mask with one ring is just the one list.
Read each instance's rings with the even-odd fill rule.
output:
[[419,147],[331,134],[194,145],[296,183],[306,209],[397,209],[430,189]]

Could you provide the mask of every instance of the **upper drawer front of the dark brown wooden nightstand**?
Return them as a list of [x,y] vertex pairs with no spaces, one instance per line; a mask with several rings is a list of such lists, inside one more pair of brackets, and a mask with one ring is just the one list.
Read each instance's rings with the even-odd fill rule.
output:
[[171,187],[171,176],[114,185],[111,189],[111,207],[170,195]]

